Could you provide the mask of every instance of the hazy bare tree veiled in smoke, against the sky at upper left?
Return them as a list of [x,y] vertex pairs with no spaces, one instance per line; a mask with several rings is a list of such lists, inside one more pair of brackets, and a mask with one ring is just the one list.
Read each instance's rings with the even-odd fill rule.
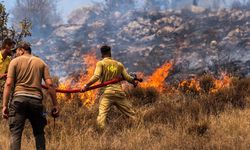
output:
[[47,34],[53,25],[61,21],[56,4],[57,0],[16,0],[12,10],[13,22],[17,24],[17,20],[28,18],[33,24],[33,33]]

